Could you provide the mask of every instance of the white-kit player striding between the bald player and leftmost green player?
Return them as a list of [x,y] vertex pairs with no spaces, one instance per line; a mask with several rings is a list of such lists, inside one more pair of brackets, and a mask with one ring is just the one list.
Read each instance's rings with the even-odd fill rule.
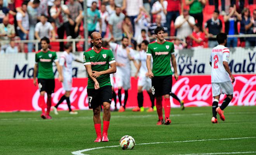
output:
[[57,111],[58,106],[66,100],[67,106],[69,108],[69,114],[78,114],[76,111],[72,111],[70,106],[69,95],[72,89],[72,61],[77,61],[79,63],[83,63],[82,61],[76,59],[72,53],[72,44],[67,43],[65,45],[65,51],[62,53],[61,58],[59,60],[61,66],[61,72],[63,75],[62,87],[66,91],[65,94],[61,97],[56,106],[52,106],[54,113],[59,114]]

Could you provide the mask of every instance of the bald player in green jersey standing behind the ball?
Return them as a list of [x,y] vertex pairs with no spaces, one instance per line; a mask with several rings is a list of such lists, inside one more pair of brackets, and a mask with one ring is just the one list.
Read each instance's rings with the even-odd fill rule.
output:
[[[116,72],[116,61],[110,49],[102,47],[99,32],[91,34],[93,47],[83,54],[83,61],[88,73],[87,95],[89,108],[93,109],[93,122],[97,138],[94,142],[109,141],[107,130],[110,121],[112,86],[109,74]],[[110,68],[109,68],[110,66]],[[100,106],[103,104],[103,132],[101,135]]]

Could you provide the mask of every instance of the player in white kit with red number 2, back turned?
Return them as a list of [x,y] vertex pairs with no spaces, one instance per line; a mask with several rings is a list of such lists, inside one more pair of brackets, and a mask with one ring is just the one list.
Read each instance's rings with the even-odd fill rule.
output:
[[[225,47],[227,44],[227,34],[219,33],[216,37],[219,45],[214,47],[211,51],[210,65],[211,65],[211,85],[213,92],[213,117],[212,123],[218,123],[217,112],[220,115],[220,119],[225,121],[224,109],[228,106],[229,102],[233,99],[234,88],[232,83],[235,82],[229,66],[229,49]],[[232,83],[230,81],[232,80]],[[218,107],[220,94],[226,94],[227,97],[223,100],[223,103]]]

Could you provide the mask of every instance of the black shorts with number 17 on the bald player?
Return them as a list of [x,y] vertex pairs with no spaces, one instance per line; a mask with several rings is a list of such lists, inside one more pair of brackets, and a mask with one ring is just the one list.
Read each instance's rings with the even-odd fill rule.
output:
[[108,102],[111,104],[112,101],[112,86],[106,85],[100,87],[99,89],[87,89],[88,95],[88,105],[89,109],[95,109],[103,104],[103,102]]

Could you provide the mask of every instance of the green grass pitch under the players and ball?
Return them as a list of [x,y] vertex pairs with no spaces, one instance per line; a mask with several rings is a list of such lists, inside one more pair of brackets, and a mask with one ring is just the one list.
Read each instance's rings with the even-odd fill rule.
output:
[[[91,110],[51,112],[51,120],[40,112],[0,113],[0,155],[72,155],[96,147],[104,148],[80,155],[255,155],[256,106],[227,107],[224,114],[225,122],[218,117],[212,124],[211,107],[173,108],[172,123],[157,126],[156,112],[111,112],[109,142],[94,143]],[[124,135],[135,139],[133,150],[114,147]]]

